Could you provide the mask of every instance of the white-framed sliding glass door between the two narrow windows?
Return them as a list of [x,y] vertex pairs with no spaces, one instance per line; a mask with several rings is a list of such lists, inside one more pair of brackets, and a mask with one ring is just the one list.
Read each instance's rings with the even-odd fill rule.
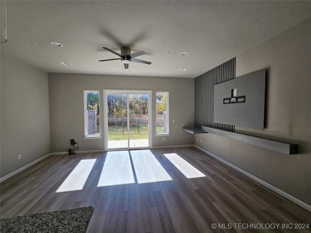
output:
[[149,148],[151,91],[104,90],[105,148]]

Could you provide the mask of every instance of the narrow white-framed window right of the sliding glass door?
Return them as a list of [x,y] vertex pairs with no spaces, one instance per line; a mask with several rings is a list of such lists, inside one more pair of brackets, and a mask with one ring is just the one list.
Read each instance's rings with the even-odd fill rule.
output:
[[156,92],[156,133],[169,133],[169,93]]

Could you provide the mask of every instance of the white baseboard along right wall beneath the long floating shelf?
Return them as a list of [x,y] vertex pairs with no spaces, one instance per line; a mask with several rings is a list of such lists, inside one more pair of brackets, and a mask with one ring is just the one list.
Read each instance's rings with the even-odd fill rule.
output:
[[217,155],[214,155],[213,153],[210,153],[208,152],[207,150],[204,150],[203,148],[197,146],[197,145],[194,145],[194,147],[196,147],[197,149],[199,150],[202,150],[203,152],[209,154],[210,156],[214,157],[215,159],[223,162],[224,164],[236,169],[237,171],[241,172],[242,174],[248,176],[249,178],[253,179],[254,181],[262,184],[263,186],[271,189],[272,191],[275,191],[276,193],[278,193],[279,195],[283,196],[284,198],[287,198],[288,200],[291,200],[293,201],[294,203],[296,203],[297,205],[300,205],[301,207],[305,208],[306,210],[309,210],[311,212],[311,206],[308,205],[307,203],[299,200],[299,199],[296,199],[295,197],[289,195],[288,193],[285,193],[284,191],[276,188],[275,186],[271,185],[270,183],[267,183],[263,180],[260,180],[258,177],[248,173],[247,171],[244,171],[242,170],[241,168],[237,167],[237,166],[234,166],[233,164],[230,164],[229,162],[225,161],[224,159],[222,158],[219,158]]

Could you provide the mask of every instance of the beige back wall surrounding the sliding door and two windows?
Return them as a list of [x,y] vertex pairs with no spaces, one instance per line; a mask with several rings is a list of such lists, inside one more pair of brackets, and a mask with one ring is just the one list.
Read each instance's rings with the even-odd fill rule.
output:
[[[52,152],[68,151],[70,139],[79,143],[79,150],[104,150],[102,139],[84,139],[84,90],[99,90],[102,107],[101,132],[103,125],[103,89],[152,90],[153,102],[156,91],[170,92],[170,136],[155,136],[153,146],[175,146],[193,144],[193,135],[182,131],[182,127],[194,121],[194,79],[135,77],[49,73],[50,122]],[[175,123],[173,123],[175,119]],[[155,104],[153,104],[155,122]]]

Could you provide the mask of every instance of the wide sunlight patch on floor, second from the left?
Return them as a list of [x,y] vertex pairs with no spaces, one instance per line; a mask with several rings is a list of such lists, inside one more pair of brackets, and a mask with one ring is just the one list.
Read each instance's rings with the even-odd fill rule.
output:
[[97,187],[135,183],[129,152],[107,152]]

